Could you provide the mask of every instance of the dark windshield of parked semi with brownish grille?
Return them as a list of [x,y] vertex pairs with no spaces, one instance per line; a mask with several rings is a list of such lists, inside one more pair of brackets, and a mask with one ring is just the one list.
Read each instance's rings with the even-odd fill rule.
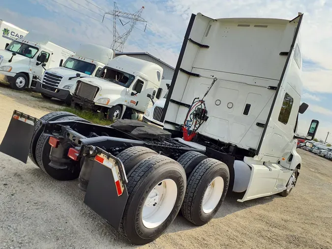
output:
[[107,66],[101,70],[98,77],[126,88],[130,87],[131,83],[135,79],[135,76],[132,74]]

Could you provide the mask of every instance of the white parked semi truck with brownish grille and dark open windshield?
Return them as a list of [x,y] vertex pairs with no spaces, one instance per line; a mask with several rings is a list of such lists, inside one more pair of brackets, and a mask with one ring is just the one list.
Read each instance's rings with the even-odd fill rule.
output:
[[[161,66],[128,56],[110,61],[98,77],[77,81],[72,105],[105,114],[111,121],[121,118],[142,119],[152,100],[160,97]],[[147,94],[150,93],[151,97]]]

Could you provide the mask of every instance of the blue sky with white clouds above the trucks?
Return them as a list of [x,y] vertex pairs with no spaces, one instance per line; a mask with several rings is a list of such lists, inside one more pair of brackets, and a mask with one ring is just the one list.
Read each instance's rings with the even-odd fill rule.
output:
[[[24,30],[47,33],[52,41],[75,51],[82,43],[110,47],[113,40],[112,0],[0,0],[0,19]],[[332,0],[118,0],[121,11],[142,17],[129,36],[124,52],[147,51],[176,65],[191,13],[211,18],[259,17],[302,22],[303,95],[308,110],[299,116],[299,130],[306,134],[312,119],[320,121],[316,134],[325,140],[332,132]],[[117,26],[120,27],[118,22]],[[120,31],[128,29],[120,27]],[[146,29],[146,30],[145,30]],[[145,32],[144,32],[145,30]],[[332,135],[327,142],[332,143]]]

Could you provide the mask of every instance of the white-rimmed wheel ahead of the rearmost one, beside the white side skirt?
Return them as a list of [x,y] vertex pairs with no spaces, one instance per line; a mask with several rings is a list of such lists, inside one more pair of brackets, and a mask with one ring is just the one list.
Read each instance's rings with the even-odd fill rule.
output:
[[229,185],[227,165],[213,158],[200,162],[187,180],[181,213],[195,225],[208,223],[219,210]]

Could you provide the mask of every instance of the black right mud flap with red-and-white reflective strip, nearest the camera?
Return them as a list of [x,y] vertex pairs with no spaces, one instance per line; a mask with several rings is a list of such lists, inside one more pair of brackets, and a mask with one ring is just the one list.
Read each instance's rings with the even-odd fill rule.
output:
[[118,158],[106,152],[95,156],[84,198],[85,204],[117,230],[128,199],[126,177],[119,162],[121,164]]

